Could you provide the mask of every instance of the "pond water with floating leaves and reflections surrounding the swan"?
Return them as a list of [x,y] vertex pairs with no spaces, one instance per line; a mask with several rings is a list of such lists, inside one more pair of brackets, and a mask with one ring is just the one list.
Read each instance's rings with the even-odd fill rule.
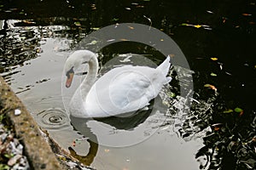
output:
[[[96,169],[255,167],[255,1],[27,0],[3,2],[0,13],[1,76],[39,126],[85,165]],[[85,73],[75,75],[71,89],[63,86],[68,55],[81,45],[94,48],[96,41],[83,42],[88,35],[121,23],[152,26],[171,37],[190,70],[172,67],[172,82],[154,99],[153,109],[149,106],[150,113],[141,111],[126,119],[70,117],[68,102]],[[131,24],[130,30],[137,28]],[[145,43],[124,39],[102,48],[100,76],[124,65],[124,60],[160,65],[165,55]],[[187,105],[181,89],[190,83],[191,75],[194,94],[186,91],[191,95]]]

